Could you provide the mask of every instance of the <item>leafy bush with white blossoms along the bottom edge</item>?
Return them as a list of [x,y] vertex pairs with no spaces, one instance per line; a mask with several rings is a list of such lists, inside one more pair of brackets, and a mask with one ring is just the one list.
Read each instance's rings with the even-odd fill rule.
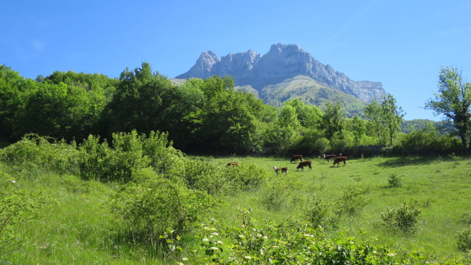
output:
[[198,250],[180,264],[466,264],[467,259],[427,259],[417,251],[406,255],[376,245],[375,238],[357,240],[338,231],[332,240],[304,222],[288,220],[259,227],[251,210],[240,210],[240,226],[227,227],[212,220],[203,225]]

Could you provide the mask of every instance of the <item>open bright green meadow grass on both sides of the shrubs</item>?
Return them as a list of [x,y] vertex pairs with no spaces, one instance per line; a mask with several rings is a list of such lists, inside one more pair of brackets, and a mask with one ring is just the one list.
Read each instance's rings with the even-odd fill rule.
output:
[[[431,257],[455,257],[456,233],[471,223],[471,160],[461,157],[377,157],[349,160],[347,166],[333,167],[332,161],[305,157],[312,171],[296,171],[289,158],[213,157],[221,167],[237,161],[240,166],[256,164],[270,176],[269,187],[222,198],[223,206],[213,209],[208,220],[218,219],[237,225],[237,209],[251,208],[253,218],[281,222],[302,217],[309,199],[336,203],[337,196],[354,187],[364,191],[367,204],[357,215],[343,215],[339,227],[355,237],[377,237],[378,244],[400,251],[421,250]],[[3,171],[11,171],[0,165]],[[276,175],[273,167],[288,167],[287,175]],[[139,245],[113,230],[110,200],[115,184],[82,181],[76,176],[57,175],[40,170],[17,181],[22,188],[42,190],[50,203],[37,218],[16,229],[30,243],[8,255],[18,264],[155,264],[156,260]],[[388,179],[399,176],[402,186],[393,188]],[[267,207],[273,187],[282,203]],[[386,229],[381,213],[404,202],[422,210],[422,223],[414,234]],[[366,233],[360,231],[366,231]],[[189,246],[191,246],[191,242]],[[158,261],[167,263],[166,261]],[[168,261],[174,263],[175,261]]]

